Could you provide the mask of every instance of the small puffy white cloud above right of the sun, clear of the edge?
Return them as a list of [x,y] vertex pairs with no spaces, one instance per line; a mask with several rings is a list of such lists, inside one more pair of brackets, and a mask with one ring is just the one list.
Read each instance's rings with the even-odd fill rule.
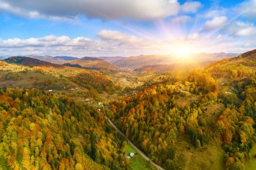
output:
[[205,22],[202,32],[211,32],[216,29],[222,28],[227,22],[227,17],[220,16],[214,17],[212,20]]

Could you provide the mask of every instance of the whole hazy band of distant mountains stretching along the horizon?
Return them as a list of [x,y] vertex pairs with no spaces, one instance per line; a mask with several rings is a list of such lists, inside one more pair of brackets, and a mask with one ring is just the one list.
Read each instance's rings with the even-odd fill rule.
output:
[[[36,58],[38,60],[51,62],[54,64],[67,65],[70,67],[87,68],[87,69],[112,69],[118,68],[133,69],[135,71],[156,70],[172,71],[176,69],[193,69],[201,67],[220,60],[237,56],[236,53],[197,53],[189,54],[189,58],[179,58],[175,54],[167,55],[140,55],[140,56],[108,56],[108,57],[83,57],[73,56],[40,56],[28,55],[26,57]],[[7,58],[3,56],[2,59]]]

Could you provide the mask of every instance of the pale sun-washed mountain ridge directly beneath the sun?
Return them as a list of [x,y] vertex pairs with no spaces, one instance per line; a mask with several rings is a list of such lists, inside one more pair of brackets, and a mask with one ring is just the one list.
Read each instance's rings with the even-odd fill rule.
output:
[[[220,60],[221,58],[228,58],[231,56],[237,56],[234,53],[197,53],[191,54],[190,58],[197,62],[209,62],[214,60]],[[121,58],[113,62],[113,65],[117,67],[126,67],[131,69],[138,69],[140,67],[145,67],[146,65],[173,65],[177,62],[187,62],[175,54],[168,55],[141,55],[141,56],[130,56]]]

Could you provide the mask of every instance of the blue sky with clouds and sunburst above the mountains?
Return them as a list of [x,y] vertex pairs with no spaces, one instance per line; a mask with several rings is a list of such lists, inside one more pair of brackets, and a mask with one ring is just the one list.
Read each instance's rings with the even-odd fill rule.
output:
[[256,48],[256,0],[0,0],[0,56]]

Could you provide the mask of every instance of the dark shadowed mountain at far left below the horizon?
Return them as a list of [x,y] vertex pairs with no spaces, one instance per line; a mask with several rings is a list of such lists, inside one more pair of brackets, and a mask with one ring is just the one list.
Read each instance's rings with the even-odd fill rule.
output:
[[12,56],[10,58],[6,58],[5,62],[11,63],[11,64],[25,65],[28,67],[34,67],[34,66],[61,67],[61,65],[56,65],[51,62],[46,62],[43,60],[38,60],[36,58],[30,58],[30,57],[26,57],[26,56]]

